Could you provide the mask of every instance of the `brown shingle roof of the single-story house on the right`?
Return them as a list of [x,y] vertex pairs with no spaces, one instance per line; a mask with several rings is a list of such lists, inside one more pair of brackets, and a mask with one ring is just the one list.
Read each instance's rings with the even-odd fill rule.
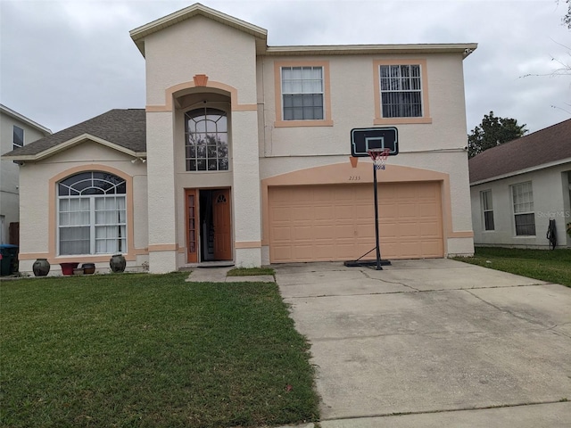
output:
[[571,162],[571,119],[488,149],[468,161],[470,184]]

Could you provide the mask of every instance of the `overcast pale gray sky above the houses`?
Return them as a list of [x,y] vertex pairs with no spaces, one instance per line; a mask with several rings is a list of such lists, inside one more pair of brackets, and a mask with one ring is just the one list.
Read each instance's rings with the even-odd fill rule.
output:
[[[145,108],[145,59],[128,32],[194,3],[0,0],[0,103],[53,132]],[[490,111],[529,132],[571,119],[564,0],[200,3],[267,29],[270,46],[477,43],[464,60],[468,133]]]

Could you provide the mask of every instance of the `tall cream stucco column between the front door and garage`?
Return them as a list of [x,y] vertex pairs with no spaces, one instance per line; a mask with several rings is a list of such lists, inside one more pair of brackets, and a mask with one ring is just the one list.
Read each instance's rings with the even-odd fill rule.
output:
[[232,112],[236,266],[261,266],[261,186],[257,111]]

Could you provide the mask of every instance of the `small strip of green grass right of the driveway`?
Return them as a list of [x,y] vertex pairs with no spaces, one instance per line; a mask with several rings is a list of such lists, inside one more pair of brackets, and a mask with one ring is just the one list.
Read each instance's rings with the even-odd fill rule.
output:
[[456,258],[521,276],[571,287],[571,250],[523,250],[476,247],[474,257]]

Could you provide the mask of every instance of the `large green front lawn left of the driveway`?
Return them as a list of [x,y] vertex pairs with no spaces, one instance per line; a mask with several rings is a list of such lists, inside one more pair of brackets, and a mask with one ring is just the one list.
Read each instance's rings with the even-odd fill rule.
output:
[[277,285],[186,276],[0,283],[0,426],[317,420],[308,344]]

